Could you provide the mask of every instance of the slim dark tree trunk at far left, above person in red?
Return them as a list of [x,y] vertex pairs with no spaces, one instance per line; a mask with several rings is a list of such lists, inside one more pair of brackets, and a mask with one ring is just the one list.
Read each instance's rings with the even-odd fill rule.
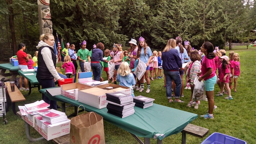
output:
[[13,0],[7,0],[8,10],[9,10],[9,26],[11,30],[11,48],[13,49],[13,54],[17,52],[17,42],[15,37],[15,29],[14,29],[14,14],[13,14],[13,7],[11,6],[13,4]]

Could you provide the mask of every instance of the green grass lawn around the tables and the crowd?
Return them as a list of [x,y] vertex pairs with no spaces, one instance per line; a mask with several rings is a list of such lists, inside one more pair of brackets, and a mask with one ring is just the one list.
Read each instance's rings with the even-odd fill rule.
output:
[[[237,92],[232,90],[232,96],[234,100],[225,100],[223,97],[215,97],[215,105],[218,107],[214,110],[214,119],[205,120],[203,118],[197,118],[192,121],[192,124],[199,125],[210,129],[203,139],[187,135],[187,144],[200,144],[207,136],[214,132],[224,133],[233,137],[237,137],[241,140],[245,140],[247,144],[256,144],[256,67],[254,64],[256,48],[246,46],[237,46],[232,50],[238,52],[240,55],[241,75],[238,78]],[[230,51],[227,50],[227,55]],[[60,66],[60,64],[58,64]],[[62,69],[64,72],[64,69]],[[106,80],[106,73],[103,72],[102,77]],[[189,111],[198,115],[205,114],[208,110],[208,102],[201,101],[199,109],[193,107],[186,107],[190,99],[190,90],[184,90],[184,98],[181,98],[185,103],[168,103],[166,98],[166,89],[163,87],[163,79],[157,79],[151,81],[151,92],[146,94],[145,91],[139,93],[135,91],[135,96],[143,95],[154,98],[154,103],[172,107],[175,109],[181,109],[183,111]],[[218,86],[215,86],[214,94],[219,91]],[[25,92],[22,92],[25,93]],[[26,101],[16,103],[18,105],[24,105],[26,103],[32,103],[36,100],[41,100],[42,95],[38,92],[37,88],[32,89],[30,96],[26,96]],[[60,105],[60,103],[59,103]],[[18,110],[18,109],[17,109]],[[67,115],[73,113],[73,107],[66,109]],[[0,143],[1,144],[27,144],[29,140],[26,138],[24,121],[13,114],[11,107],[6,116],[8,124],[4,125],[3,121],[0,124]],[[1,118],[2,119],[2,118]],[[160,118],[161,119],[161,118]],[[170,122],[172,124],[172,122]],[[105,139],[107,144],[138,144],[138,142],[130,135],[130,133],[104,121]],[[31,128],[31,135],[33,137],[40,137],[37,131]],[[141,140],[143,138],[141,137]],[[33,144],[53,143],[51,141],[41,140],[39,142],[33,142]],[[157,140],[150,140],[150,143],[157,143]],[[171,135],[163,139],[163,144],[181,144],[181,133]]]

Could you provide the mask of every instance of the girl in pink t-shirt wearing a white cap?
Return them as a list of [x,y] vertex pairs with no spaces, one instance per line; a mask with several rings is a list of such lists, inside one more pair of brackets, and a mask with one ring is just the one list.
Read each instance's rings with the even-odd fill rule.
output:
[[230,62],[229,58],[226,55],[220,57],[221,64],[218,66],[218,78],[221,82],[221,93],[216,94],[216,96],[223,96],[223,89],[224,85],[227,89],[228,96],[225,97],[227,100],[232,100],[231,91],[229,87],[229,80],[230,80]]

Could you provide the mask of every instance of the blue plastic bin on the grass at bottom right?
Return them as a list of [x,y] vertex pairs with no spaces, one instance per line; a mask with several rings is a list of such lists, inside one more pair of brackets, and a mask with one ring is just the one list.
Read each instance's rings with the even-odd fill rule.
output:
[[247,144],[236,137],[224,135],[222,133],[212,133],[201,144]]

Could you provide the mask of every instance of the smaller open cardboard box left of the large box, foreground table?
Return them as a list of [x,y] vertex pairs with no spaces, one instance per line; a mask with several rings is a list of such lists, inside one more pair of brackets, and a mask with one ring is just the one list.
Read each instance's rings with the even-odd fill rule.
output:
[[[63,96],[66,96],[68,98],[71,98],[73,100],[78,100],[78,90],[79,89],[85,89],[85,88],[90,88],[93,86],[90,85],[83,85],[80,83],[69,83],[69,84],[65,84],[65,85],[61,85],[60,89],[61,89],[61,94]],[[71,90],[74,89],[73,92],[67,92],[67,90]]]

